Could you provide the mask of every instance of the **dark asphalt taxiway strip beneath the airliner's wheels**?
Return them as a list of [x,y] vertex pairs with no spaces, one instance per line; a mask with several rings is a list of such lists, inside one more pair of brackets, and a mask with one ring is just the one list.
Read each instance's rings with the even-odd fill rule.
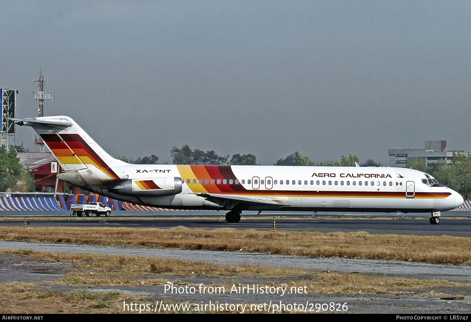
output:
[[[130,227],[130,228],[172,228],[184,226],[188,228],[235,228],[272,230],[273,219],[244,219],[239,223],[227,223],[219,218],[214,219],[133,219],[122,217],[65,217],[58,220],[35,220],[34,217],[26,218],[30,227]],[[0,226],[22,227],[24,220],[0,220]],[[309,232],[357,232],[367,233],[394,233],[414,234],[427,236],[461,236],[471,237],[471,220],[455,219],[453,217],[442,218],[439,225],[430,225],[429,218],[398,218],[398,219],[373,219],[373,218],[316,218],[304,217],[293,219],[276,219],[276,230],[309,231]]]

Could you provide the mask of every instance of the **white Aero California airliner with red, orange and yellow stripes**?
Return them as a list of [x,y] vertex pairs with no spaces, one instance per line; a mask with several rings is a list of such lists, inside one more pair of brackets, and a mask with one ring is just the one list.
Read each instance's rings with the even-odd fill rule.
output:
[[430,212],[463,197],[421,171],[389,167],[283,167],[129,164],[106,153],[67,116],[12,119],[31,126],[71,185],[134,204],[169,209]]

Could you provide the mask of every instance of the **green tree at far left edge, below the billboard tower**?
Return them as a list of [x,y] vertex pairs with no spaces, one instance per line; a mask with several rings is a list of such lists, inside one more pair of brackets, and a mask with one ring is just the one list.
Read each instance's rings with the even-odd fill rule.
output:
[[[29,171],[24,169],[20,164],[15,149],[7,148],[3,145],[0,146],[0,191],[8,191],[20,185],[31,185],[32,179]],[[18,182],[20,181],[20,182]],[[29,187],[26,188],[29,190]],[[23,190],[23,189],[22,189]]]

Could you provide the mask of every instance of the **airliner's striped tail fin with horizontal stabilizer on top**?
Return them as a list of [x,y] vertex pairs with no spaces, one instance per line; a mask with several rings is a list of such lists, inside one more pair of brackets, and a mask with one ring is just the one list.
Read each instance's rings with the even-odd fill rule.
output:
[[106,153],[70,117],[46,116],[12,120],[18,125],[31,126],[65,172],[78,171],[82,175],[85,171],[90,179],[99,181],[120,179],[115,169],[126,163]]

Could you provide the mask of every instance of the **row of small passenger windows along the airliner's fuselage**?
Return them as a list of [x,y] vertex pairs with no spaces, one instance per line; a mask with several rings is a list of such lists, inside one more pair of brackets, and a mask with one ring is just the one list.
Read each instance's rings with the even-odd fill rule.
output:
[[[187,179],[187,184],[189,185],[192,181],[190,179]],[[239,184],[239,180],[235,179],[223,179],[222,180],[222,184],[223,185],[227,185],[227,182],[229,183],[229,185],[232,185],[232,184],[236,184],[238,185]],[[201,185],[203,184],[203,179],[199,179],[198,180],[198,183]],[[217,180],[214,180],[214,179],[211,179],[211,184],[214,185],[215,183],[217,183],[218,185],[221,184],[221,179],[217,179]],[[243,185],[245,185],[245,180],[241,180],[240,183],[242,183]],[[196,184],[196,179],[193,179],[193,184]],[[204,184],[205,185],[208,185],[209,184],[209,179],[204,179]],[[252,185],[252,180],[247,180],[247,184],[248,185]],[[259,180],[253,180],[253,184],[254,185],[258,185],[259,184]],[[274,185],[277,185],[278,184],[278,180],[273,180],[273,184]],[[280,180],[279,182],[280,185],[289,185],[290,184],[290,180]],[[296,180],[291,180],[291,184],[292,185],[296,185]],[[302,185],[303,182],[301,180],[298,180],[298,185]],[[310,185],[314,185],[314,180],[310,180],[309,182]],[[322,185],[339,185],[339,181],[325,181],[323,180],[322,181]],[[265,180],[260,180],[260,185],[265,185]],[[271,185],[271,180],[267,180],[267,185]],[[304,180],[304,185],[308,185],[308,180]],[[316,185],[321,185],[321,181],[317,180],[316,181]],[[340,181],[340,185],[350,185],[350,181]],[[357,181],[352,181],[351,182],[351,185],[357,185]],[[388,185],[388,183],[386,181],[383,181],[381,183],[381,181],[358,181],[358,185],[383,185],[383,186],[386,186]],[[392,186],[392,182],[390,181],[389,182],[389,185]]]

